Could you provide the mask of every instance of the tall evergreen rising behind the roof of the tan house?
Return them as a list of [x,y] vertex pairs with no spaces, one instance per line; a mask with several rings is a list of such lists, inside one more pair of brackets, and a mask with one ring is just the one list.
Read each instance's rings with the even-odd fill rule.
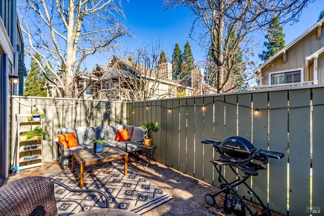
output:
[[262,51],[262,54],[259,54],[259,58],[264,62],[285,47],[285,34],[283,33],[283,28],[280,25],[279,19],[275,16],[269,24],[265,38],[267,41],[265,41],[263,45],[267,48],[267,51]]

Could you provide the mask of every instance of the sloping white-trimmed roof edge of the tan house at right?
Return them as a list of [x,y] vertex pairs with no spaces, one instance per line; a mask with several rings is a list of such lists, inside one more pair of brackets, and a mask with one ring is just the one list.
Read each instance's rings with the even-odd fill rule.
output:
[[[315,28],[317,28],[317,26],[321,26],[322,23],[324,22],[324,18],[319,20],[318,22],[316,22],[314,25],[312,25],[310,28],[308,28],[306,31],[304,31],[302,34],[300,34],[298,37],[296,37],[293,41],[291,41],[285,48],[282,48],[281,50],[279,50],[278,52],[276,52],[271,58],[269,58],[266,62],[264,62],[263,64],[261,64],[259,67],[257,67],[254,72],[258,72],[260,71],[261,68],[265,67],[267,64],[269,64],[271,61],[273,61],[275,58],[277,58],[278,56],[280,56],[282,53],[285,53],[286,50],[290,49],[291,47],[293,47],[299,40],[301,40],[303,37],[305,37],[307,34],[309,34],[310,32],[312,32]],[[321,50],[321,49],[320,49]],[[318,51],[316,51],[318,52]],[[323,51],[321,51],[323,52]],[[320,53],[321,53],[320,52]],[[312,54],[313,55],[313,54]],[[310,60],[310,59],[309,59]]]

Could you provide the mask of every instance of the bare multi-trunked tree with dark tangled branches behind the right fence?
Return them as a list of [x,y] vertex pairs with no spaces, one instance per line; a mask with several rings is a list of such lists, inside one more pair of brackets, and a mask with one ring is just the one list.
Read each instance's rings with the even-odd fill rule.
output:
[[[251,46],[255,43],[252,34],[254,31],[264,29],[273,17],[278,18],[280,24],[298,20],[301,11],[310,2],[312,1],[164,0],[167,8],[185,6],[192,12],[195,19],[189,35],[206,50],[210,60],[210,84],[218,93],[237,89],[237,85],[231,83],[237,80],[233,76],[237,76],[238,71],[254,66],[254,62],[249,60],[254,55]],[[238,53],[242,55],[239,61]],[[246,78],[249,77],[251,78]]]

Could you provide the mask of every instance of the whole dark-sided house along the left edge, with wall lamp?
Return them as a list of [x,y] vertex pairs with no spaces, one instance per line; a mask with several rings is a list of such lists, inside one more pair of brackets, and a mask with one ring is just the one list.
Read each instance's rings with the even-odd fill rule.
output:
[[[14,124],[11,112],[11,95],[23,94],[24,46],[16,11],[16,1],[0,1],[0,185],[8,177],[12,149],[8,138]],[[19,85],[14,78],[19,77]],[[8,116],[13,116],[11,119]],[[13,120],[12,120],[13,119]]]

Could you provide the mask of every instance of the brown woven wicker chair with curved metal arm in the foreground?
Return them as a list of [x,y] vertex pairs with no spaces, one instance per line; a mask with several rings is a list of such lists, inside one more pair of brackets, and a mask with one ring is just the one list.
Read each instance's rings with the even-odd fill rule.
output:
[[105,197],[106,207],[109,208],[108,196],[103,191],[71,189],[49,177],[26,177],[0,188],[0,215],[56,215],[54,184],[72,192],[100,193]]

